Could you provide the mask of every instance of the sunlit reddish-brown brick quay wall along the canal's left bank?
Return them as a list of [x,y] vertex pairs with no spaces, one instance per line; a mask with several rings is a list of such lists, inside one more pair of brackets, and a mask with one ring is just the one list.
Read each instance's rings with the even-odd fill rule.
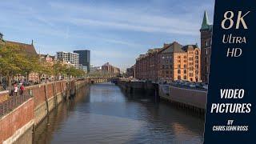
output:
[[0,144],[32,143],[34,127],[60,102],[68,101],[80,88],[91,82],[106,82],[106,79],[88,78],[27,86],[24,94],[32,97],[8,114],[0,115]]

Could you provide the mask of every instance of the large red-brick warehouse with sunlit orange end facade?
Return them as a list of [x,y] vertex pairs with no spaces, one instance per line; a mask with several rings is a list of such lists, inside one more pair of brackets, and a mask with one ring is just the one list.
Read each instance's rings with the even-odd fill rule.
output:
[[135,77],[153,81],[201,82],[200,54],[196,45],[164,44],[162,49],[149,50],[137,58]]

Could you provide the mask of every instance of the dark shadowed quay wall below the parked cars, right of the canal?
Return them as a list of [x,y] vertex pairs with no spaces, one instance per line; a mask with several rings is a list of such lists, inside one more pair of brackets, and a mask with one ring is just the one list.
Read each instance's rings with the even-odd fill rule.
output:
[[[204,114],[206,110],[207,90],[199,90],[193,88],[159,85],[151,82],[130,82],[126,80],[118,80],[117,85],[127,94],[134,94],[142,91],[150,97],[166,100],[174,106],[181,107],[185,110],[191,110],[198,114]],[[158,94],[153,93],[158,92]]]

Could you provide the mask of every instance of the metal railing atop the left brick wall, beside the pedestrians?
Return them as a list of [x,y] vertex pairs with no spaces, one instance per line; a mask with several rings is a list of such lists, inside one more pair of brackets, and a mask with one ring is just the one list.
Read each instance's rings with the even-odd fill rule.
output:
[[22,105],[22,103],[26,102],[29,98],[32,98],[30,94],[23,94],[13,96],[4,102],[0,102],[0,117],[8,114],[11,110],[14,110],[16,107]]

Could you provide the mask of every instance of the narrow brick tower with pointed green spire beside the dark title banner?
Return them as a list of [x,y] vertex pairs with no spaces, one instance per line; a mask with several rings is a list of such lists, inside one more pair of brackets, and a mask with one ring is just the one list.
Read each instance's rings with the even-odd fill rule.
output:
[[202,82],[209,82],[210,73],[210,49],[211,49],[211,36],[212,36],[213,25],[209,24],[208,15],[205,11],[202,26],[200,29],[201,33],[201,78]]

